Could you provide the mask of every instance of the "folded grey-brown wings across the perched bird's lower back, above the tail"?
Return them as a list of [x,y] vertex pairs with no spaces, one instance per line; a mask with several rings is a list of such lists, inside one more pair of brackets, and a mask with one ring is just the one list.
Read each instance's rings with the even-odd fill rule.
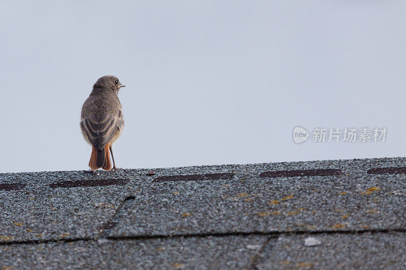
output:
[[119,112],[116,115],[112,113],[90,114],[83,118],[82,124],[87,138],[96,149],[103,150],[107,143],[113,138],[117,131]]

